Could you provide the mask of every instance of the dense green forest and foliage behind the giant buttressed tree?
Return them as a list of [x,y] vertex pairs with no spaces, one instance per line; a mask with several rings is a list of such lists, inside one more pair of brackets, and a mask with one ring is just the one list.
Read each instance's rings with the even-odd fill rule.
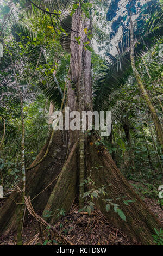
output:
[[[70,71],[71,17],[76,14],[78,5],[57,2],[58,10],[62,10],[59,19],[57,15],[48,15],[51,10],[44,4],[40,6],[46,11],[38,9],[30,1],[4,1],[1,5],[0,183],[4,199],[17,190],[22,179],[22,161],[25,172],[25,167],[28,170],[46,144],[53,130],[52,113],[62,110],[62,103],[66,104],[68,100],[65,85]],[[57,2],[54,1],[54,13],[57,13]],[[84,30],[87,40],[92,40],[92,43],[86,41],[84,47],[92,56],[93,109],[111,111],[112,118],[111,135],[98,139],[95,145],[102,145],[109,151],[116,166],[140,198],[148,202],[149,207],[151,204],[154,205],[151,208],[159,209],[156,215],[162,221],[160,212],[163,202],[158,198],[158,187],[162,185],[163,149],[157,126],[157,121],[160,129],[163,126],[162,1],[145,1],[149,3],[139,10],[134,31],[136,69],[157,120],[148,106],[148,100],[142,95],[131,65],[131,38],[127,38],[131,32],[125,23],[129,18],[128,13],[123,15],[123,19],[119,16],[115,21],[114,14],[122,12],[122,7],[117,5],[119,1],[90,2],[93,5],[89,5],[89,1],[83,2],[83,13],[87,19],[88,13],[92,16],[92,31]],[[136,8],[139,9],[139,4]],[[76,37],[75,40],[78,45],[81,44],[80,38]],[[22,131],[25,138],[24,159]],[[59,154],[58,159],[65,157],[62,151]],[[92,180],[85,179],[84,182],[85,186],[89,182],[93,184]],[[89,191],[90,194],[85,194],[85,197],[91,195],[92,191]],[[104,192],[104,188],[98,190],[97,195],[93,192],[96,198]],[[124,202],[126,205],[130,203]],[[90,207],[90,203],[86,204],[88,214],[93,212]],[[49,211],[44,212],[46,219],[49,214]],[[64,209],[58,209],[59,217],[65,214]],[[124,221],[123,212],[119,212],[119,215]],[[155,239],[162,242],[157,240],[158,237]]]

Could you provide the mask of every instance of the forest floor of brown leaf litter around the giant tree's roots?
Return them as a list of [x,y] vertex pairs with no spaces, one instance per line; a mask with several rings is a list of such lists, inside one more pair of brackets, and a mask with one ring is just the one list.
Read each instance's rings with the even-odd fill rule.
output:
[[[163,214],[157,200],[145,197],[140,192],[139,182],[130,181],[142,197],[149,209],[163,222]],[[0,207],[1,207],[0,203]],[[55,225],[55,228],[74,245],[139,245],[139,241],[130,242],[121,229],[117,229],[106,220],[101,212],[95,210],[91,215],[86,212],[78,213],[78,204],[74,204],[70,214],[66,214]],[[37,231],[36,231],[37,230]],[[0,245],[16,245],[17,234],[0,236]],[[23,230],[24,245],[66,245],[67,241],[51,230],[42,227],[42,239],[39,235],[39,225],[32,216],[28,215]]]

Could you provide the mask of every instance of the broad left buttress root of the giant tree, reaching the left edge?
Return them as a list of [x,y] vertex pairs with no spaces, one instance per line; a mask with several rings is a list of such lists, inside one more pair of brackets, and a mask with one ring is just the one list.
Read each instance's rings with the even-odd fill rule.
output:
[[[30,198],[33,199],[49,184],[51,184],[55,178],[57,178],[62,166],[64,165],[66,157],[66,148],[64,144],[65,139],[66,136],[64,132],[56,131],[46,159],[37,167],[27,172],[26,196],[30,196]],[[32,163],[32,166],[34,166],[34,164],[38,162],[45,154],[48,143],[49,139]],[[55,180],[51,186],[32,200],[32,204],[36,211],[43,211],[56,182],[57,180]],[[18,186],[21,187],[21,182],[18,184]],[[17,203],[21,203],[20,193],[12,192],[10,198],[14,199]],[[8,234],[11,231],[16,230],[19,204],[16,204],[12,199],[7,199],[0,210],[1,234]]]

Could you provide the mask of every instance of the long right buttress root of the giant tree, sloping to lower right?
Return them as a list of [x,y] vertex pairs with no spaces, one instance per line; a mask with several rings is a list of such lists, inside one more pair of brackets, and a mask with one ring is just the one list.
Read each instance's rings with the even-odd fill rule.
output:
[[[91,141],[96,142],[97,139],[94,138]],[[139,196],[137,196],[129,182],[116,167],[108,151],[103,145],[97,147],[95,144],[92,146],[89,144],[87,147],[86,162],[87,176],[91,175],[96,187],[105,186],[104,191],[108,193],[105,198],[114,199],[113,202],[120,205],[120,209],[126,215],[126,221],[121,220],[112,209],[106,212],[106,203],[102,198],[96,201],[97,208],[109,218],[109,221],[115,227],[122,228],[126,232],[128,239],[137,240],[143,245],[152,245],[154,228],[160,229],[162,224],[153,215],[151,210],[147,208],[145,203],[142,202]],[[92,170],[92,172],[89,172],[89,170]],[[116,202],[115,199],[118,197],[121,197],[121,199]],[[123,203],[123,200],[133,200],[133,202],[126,205]]]

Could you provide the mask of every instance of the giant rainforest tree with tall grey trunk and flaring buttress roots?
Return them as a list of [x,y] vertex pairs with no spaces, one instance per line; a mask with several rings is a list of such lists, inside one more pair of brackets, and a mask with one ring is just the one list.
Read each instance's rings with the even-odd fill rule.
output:
[[[45,1],[45,6],[46,3],[48,3],[48,9],[52,10],[56,3],[65,3],[65,1]],[[93,108],[91,46],[88,38],[92,31],[92,21],[88,6],[87,2],[81,1],[76,1],[73,6],[71,59],[66,84],[66,106],[70,107],[70,111],[79,109],[82,112]],[[41,9],[44,9],[42,5]],[[47,13],[51,15],[50,11]],[[85,33],[86,31],[90,32]],[[88,45],[87,50],[85,45]],[[65,144],[65,141],[68,143]],[[109,218],[112,224],[123,228],[131,240],[136,239],[143,244],[153,243],[153,229],[159,228],[161,224],[118,170],[103,144],[97,144],[97,141],[100,141],[100,138],[95,132],[91,135],[84,135],[83,132],[77,131],[52,133],[27,172],[26,194],[32,198],[35,210],[44,210],[45,219],[54,224],[58,220],[57,209],[70,211],[78,193],[78,185],[84,183],[82,182],[84,178],[91,174],[97,187],[105,185],[107,196],[103,196],[103,199],[108,197],[108,200],[115,200],[121,196],[132,201],[127,206],[121,199],[118,206],[107,212],[106,201],[102,198],[94,198],[96,207]],[[84,204],[82,198],[84,190],[86,187],[80,186],[80,207]],[[12,193],[12,197],[16,202],[20,200],[17,194]],[[45,215],[47,211],[51,214]],[[12,200],[7,200],[0,215],[0,227],[3,233],[7,234],[11,229],[15,229],[16,212],[17,205]],[[126,215],[126,221],[124,221],[124,215]]]

